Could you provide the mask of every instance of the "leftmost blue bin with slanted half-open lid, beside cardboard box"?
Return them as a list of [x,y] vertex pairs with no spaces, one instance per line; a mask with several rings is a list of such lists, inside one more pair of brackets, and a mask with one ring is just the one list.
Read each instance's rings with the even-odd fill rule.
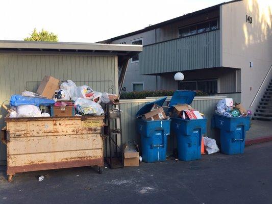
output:
[[[148,103],[136,114],[139,117],[150,112],[154,104],[162,106],[166,97]],[[147,163],[166,160],[167,136],[170,134],[171,120],[137,119],[137,131],[141,138],[142,160]]]

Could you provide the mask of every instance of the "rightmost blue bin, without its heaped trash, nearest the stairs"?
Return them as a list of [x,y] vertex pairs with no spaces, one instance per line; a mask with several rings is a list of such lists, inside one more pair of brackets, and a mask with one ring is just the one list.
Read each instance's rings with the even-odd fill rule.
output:
[[245,132],[250,130],[250,116],[227,117],[215,114],[214,127],[220,130],[221,152],[226,155],[243,154]]

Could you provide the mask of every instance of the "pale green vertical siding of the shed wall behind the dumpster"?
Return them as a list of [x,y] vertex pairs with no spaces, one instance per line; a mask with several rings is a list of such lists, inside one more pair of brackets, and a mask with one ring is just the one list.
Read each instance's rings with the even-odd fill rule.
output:
[[[69,79],[78,86],[88,85],[93,90],[115,93],[114,56],[0,54],[0,101],[9,100],[23,90],[36,92],[44,75],[61,81]],[[4,104],[9,104],[6,101]],[[2,110],[3,128],[6,111]],[[0,144],[0,162],[6,160],[6,146]]]

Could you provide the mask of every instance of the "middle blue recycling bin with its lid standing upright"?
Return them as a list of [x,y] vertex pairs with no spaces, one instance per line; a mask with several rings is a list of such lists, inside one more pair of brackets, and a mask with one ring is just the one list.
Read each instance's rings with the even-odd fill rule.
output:
[[[175,91],[169,107],[192,103],[194,91]],[[201,140],[206,133],[207,119],[171,118],[171,133],[177,136],[178,158],[182,161],[201,159]]]

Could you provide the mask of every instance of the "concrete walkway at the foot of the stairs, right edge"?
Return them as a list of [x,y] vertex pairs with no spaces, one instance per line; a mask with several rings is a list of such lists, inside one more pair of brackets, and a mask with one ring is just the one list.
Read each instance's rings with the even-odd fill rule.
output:
[[251,120],[251,127],[246,132],[246,140],[272,136],[272,121]]

